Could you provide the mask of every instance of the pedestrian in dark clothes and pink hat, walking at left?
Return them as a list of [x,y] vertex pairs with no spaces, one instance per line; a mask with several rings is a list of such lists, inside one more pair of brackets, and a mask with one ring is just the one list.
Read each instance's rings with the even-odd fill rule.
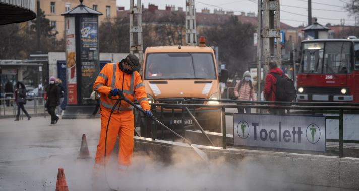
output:
[[59,117],[55,114],[55,109],[60,105],[60,88],[55,84],[56,78],[50,78],[50,85],[46,92],[46,104],[47,112],[51,115],[51,124],[57,123]]

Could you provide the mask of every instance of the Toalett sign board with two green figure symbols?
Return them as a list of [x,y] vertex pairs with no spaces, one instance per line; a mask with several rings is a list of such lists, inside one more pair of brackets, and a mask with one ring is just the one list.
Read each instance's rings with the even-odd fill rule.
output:
[[233,114],[234,145],[325,152],[325,116]]

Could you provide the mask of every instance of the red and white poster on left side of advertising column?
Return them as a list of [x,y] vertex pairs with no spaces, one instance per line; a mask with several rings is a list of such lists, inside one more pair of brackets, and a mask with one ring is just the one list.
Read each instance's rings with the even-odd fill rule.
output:
[[76,45],[75,45],[75,17],[65,18],[65,40],[66,40],[66,78],[67,78],[67,98],[69,105],[77,104],[76,87]]

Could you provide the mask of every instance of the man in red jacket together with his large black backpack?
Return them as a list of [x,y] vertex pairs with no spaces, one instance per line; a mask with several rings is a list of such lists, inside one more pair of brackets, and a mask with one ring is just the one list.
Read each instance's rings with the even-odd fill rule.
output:
[[[269,73],[266,75],[264,84],[264,98],[266,101],[291,102],[296,97],[294,82],[288,75],[278,68],[277,62],[269,61]],[[274,104],[270,104],[274,105]],[[285,109],[271,108],[271,114],[284,114]]]

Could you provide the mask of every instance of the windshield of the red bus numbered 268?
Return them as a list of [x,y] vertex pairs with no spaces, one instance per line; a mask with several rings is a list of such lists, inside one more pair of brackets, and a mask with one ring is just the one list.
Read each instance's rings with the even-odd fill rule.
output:
[[351,42],[303,43],[302,73],[345,74],[351,72]]

